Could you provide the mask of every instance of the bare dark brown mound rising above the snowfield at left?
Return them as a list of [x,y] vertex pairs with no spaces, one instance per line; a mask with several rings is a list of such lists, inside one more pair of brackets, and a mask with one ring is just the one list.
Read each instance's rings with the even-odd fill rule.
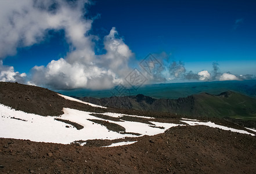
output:
[[103,108],[66,100],[49,89],[12,82],[0,82],[0,103],[16,110],[43,116],[64,114],[63,107],[100,113],[106,111]]

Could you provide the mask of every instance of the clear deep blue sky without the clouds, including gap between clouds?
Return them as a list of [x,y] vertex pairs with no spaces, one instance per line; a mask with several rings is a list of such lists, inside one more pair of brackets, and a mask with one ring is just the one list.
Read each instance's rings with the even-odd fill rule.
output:
[[[86,17],[98,35],[98,53],[104,53],[103,37],[116,27],[125,44],[142,60],[149,53],[166,52],[185,63],[187,70],[201,71],[218,62],[222,72],[256,75],[256,1],[93,1]],[[20,73],[35,65],[64,57],[68,44],[63,31],[49,31],[46,39],[3,64]]]

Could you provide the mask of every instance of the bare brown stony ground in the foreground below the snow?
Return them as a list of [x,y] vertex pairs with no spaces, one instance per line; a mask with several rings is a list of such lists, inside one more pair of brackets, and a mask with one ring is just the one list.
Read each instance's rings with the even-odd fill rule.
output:
[[121,147],[0,139],[0,173],[254,173],[256,139],[178,126]]

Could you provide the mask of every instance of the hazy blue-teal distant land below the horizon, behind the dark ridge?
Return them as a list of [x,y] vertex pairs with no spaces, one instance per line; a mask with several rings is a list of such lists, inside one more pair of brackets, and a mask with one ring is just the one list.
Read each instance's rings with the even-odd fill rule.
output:
[[[221,92],[232,90],[244,95],[254,97],[256,99],[256,80],[245,81],[213,81],[213,82],[183,82],[170,84],[151,84],[142,85],[138,89],[126,88],[129,90],[125,95],[136,96],[143,94],[156,99],[178,99],[179,97],[188,97],[190,95],[199,94],[202,92],[218,95]],[[111,96],[122,96],[116,90],[118,86],[106,90],[90,90],[90,89],[74,89],[74,90],[57,90],[66,96],[76,97],[93,97],[104,98]]]

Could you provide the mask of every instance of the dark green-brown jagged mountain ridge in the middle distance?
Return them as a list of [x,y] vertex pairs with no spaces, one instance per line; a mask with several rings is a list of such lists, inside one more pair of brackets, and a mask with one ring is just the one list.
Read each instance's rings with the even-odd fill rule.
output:
[[196,117],[256,118],[256,99],[230,90],[219,95],[200,93],[179,99],[154,99],[142,94],[129,97],[102,99],[81,97],[79,99],[102,106],[168,112]]

